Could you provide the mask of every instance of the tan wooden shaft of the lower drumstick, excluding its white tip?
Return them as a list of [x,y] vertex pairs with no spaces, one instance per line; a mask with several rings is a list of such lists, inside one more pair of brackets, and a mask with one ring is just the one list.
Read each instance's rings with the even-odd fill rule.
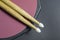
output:
[[29,27],[31,27],[32,29],[37,31],[37,27],[35,27],[33,24],[31,24],[28,20],[26,20],[24,17],[22,17],[20,14],[18,14],[16,11],[14,11],[12,8],[8,7],[2,1],[0,1],[0,6],[4,10],[6,10],[9,14],[11,14],[14,17],[16,17],[18,20],[22,21],[23,23],[25,23],[26,25],[28,25]]

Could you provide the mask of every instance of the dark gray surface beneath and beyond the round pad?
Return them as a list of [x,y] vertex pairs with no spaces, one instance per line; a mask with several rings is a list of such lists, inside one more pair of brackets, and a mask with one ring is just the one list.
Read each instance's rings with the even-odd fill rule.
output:
[[60,40],[60,0],[41,0],[37,20],[45,25],[41,33],[31,30],[15,40]]

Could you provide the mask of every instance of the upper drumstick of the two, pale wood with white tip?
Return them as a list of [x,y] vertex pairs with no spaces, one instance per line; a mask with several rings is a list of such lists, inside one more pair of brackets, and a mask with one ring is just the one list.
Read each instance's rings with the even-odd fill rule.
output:
[[29,15],[25,10],[23,10],[21,7],[18,7],[16,4],[14,4],[13,2],[11,2],[10,0],[2,0],[4,3],[6,3],[8,6],[10,6],[11,8],[13,8],[14,10],[16,10],[19,14],[21,14],[22,16],[26,17],[27,19],[31,20],[32,22],[38,24],[40,27],[44,27],[44,25],[37,21],[35,18],[33,18],[31,15]]

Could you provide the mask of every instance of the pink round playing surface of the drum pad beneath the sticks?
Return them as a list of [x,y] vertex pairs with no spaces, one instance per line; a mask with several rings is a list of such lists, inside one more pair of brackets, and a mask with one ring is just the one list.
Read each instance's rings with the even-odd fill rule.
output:
[[[35,15],[37,0],[12,0],[18,6],[27,11],[31,16]],[[4,11],[0,10],[0,38],[7,38],[22,32],[25,25],[16,21]]]

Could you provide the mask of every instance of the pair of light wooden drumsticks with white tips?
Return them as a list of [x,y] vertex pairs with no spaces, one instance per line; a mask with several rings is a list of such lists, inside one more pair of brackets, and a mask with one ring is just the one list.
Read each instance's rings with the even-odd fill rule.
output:
[[[36,32],[40,33],[40,28],[34,26],[30,21],[38,24],[40,27],[44,27],[44,25],[37,21],[35,18],[33,18],[31,15],[29,15],[26,11],[24,11],[21,7],[18,7],[16,4],[11,2],[10,0],[0,0],[0,7],[6,10],[9,14],[20,20],[21,22],[28,25],[28,27],[31,27],[32,29],[36,30]],[[25,18],[24,18],[24,17]],[[28,21],[27,19],[30,21]]]

